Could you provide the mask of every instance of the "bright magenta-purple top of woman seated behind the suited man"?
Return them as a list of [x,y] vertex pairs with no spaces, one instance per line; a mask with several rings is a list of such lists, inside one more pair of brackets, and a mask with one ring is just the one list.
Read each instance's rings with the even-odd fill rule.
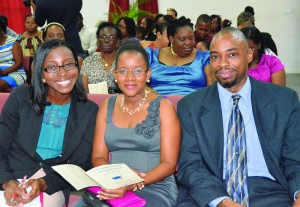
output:
[[284,70],[284,65],[278,57],[263,54],[257,67],[249,68],[248,75],[256,80],[271,83],[271,76],[280,70]]

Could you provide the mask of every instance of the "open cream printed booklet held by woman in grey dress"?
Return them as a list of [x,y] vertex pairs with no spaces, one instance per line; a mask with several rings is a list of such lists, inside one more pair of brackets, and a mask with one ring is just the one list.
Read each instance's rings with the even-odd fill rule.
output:
[[76,190],[91,186],[117,189],[144,181],[123,163],[101,165],[86,172],[81,167],[72,164],[57,165],[52,168]]

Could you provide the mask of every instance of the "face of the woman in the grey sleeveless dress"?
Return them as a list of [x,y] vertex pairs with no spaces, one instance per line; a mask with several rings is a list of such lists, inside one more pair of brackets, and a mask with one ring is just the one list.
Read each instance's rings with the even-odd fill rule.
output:
[[[128,71],[121,74],[121,71]],[[130,71],[130,72],[129,72]],[[133,71],[140,71],[136,73]],[[142,54],[136,51],[123,52],[117,60],[115,78],[121,91],[127,97],[142,96],[146,81],[149,80],[151,71],[147,70],[147,63]]]

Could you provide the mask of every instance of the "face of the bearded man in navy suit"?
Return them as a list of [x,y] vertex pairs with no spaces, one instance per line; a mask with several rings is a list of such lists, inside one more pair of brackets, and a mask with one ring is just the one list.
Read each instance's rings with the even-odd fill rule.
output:
[[252,51],[247,41],[231,33],[216,36],[210,46],[210,65],[218,82],[232,93],[247,80]]

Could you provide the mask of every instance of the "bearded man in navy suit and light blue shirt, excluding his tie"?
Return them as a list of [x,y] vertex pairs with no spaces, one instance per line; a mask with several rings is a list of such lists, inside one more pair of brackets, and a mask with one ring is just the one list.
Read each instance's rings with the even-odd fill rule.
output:
[[[182,126],[178,206],[300,206],[299,98],[289,88],[248,77],[251,59],[252,51],[238,29],[220,31],[210,47],[217,82],[178,103]],[[229,117],[236,94],[246,137],[245,205],[228,193],[225,179]]]

